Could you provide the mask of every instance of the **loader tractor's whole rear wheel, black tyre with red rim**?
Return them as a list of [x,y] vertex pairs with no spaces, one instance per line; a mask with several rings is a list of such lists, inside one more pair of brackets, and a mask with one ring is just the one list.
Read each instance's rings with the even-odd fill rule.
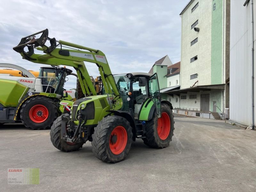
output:
[[165,148],[170,144],[174,131],[174,121],[171,108],[163,103],[162,117],[157,118],[156,111],[153,118],[146,123],[146,138],[144,143],[153,148]]

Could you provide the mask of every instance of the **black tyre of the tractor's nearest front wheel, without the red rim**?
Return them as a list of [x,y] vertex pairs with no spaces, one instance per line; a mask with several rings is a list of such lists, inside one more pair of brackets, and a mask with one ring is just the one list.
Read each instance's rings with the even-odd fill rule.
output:
[[[122,126],[125,129],[127,133],[127,142],[123,151],[120,154],[115,155],[110,149],[109,142],[112,131],[118,126]],[[128,155],[131,149],[131,145],[132,127],[124,117],[107,116],[103,118],[94,128],[94,133],[92,134],[92,152],[98,159],[102,161],[108,163],[116,163],[124,160],[124,158]]]

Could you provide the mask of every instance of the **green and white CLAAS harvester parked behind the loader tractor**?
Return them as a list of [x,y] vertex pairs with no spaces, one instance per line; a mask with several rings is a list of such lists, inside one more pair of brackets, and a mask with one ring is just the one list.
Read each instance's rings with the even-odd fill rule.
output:
[[[63,95],[63,86],[66,77],[72,75],[72,70],[41,67],[39,76],[35,77],[20,66],[0,63],[0,67],[21,71],[21,76],[0,74],[0,87],[3,89],[0,92],[0,124],[21,121],[32,130],[50,128],[64,112],[65,106],[60,101],[70,99],[69,95]],[[62,103],[71,106],[73,102],[64,100]]]

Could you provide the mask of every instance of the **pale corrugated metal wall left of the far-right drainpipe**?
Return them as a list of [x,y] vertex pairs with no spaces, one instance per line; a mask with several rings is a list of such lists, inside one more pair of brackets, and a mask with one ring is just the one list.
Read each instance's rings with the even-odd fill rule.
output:
[[[229,105],[231,120],[251,125],[251,4],[249,3],[244,7],[244,2],[245,0],[232,0],[230,2]],[[254,3],[256,3],[255,0]],[[255,14],[256,12],[254,12]],[[256,22],[254,27],[256,27]]]

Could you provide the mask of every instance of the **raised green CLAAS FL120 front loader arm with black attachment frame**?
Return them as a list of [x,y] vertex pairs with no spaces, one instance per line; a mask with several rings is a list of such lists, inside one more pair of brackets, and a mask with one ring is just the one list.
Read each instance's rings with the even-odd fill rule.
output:
[[[41,34],[41,36],[36,38],[36,35],[38,34]],[[50,41],[51,46],[45,45],[47,40]],[[28,48],[28,52],[25,52],[24,50],[26,47]],[[34,49],[42,51],[44,54],[35,54]],[[74,67],[81,84],[82,91],[86,96],[97,95],[97,93],[94,89],[84,61],[95,63],[99,68],[106,93],[111,95],[114,93],[116,96],[115,98],[120,98],[115,79],[109,68],[106,56],[99,50],[62,40],[56,41],[55,38],[48,37],[48,29],[23,37],[20,44],[13,47],[13,50],[19,52],[23,59],[34,63]]]

